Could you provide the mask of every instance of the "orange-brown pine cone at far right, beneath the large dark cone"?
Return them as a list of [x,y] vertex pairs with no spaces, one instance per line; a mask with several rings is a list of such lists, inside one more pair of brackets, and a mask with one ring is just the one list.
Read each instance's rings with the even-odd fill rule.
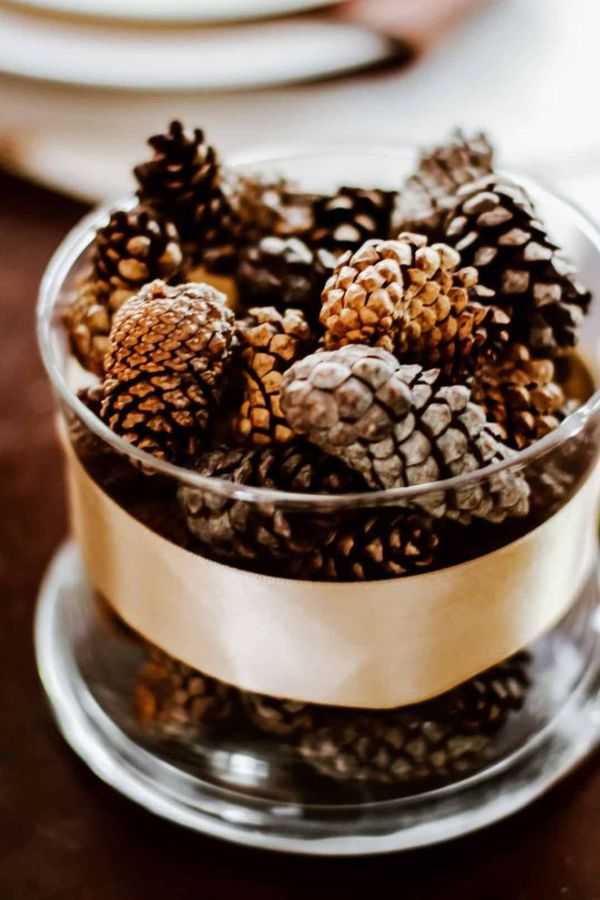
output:
[[515,344],[502,362],[478,369],[471,393],[516,450],[553,431],[568,411],[552,360],[532,359],[523,344]]

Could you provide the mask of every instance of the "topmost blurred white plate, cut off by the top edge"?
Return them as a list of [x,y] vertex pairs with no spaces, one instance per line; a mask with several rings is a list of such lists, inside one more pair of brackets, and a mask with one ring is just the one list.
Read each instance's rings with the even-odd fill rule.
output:
[[75,16],[162,22],[227,22],[282,16],[332,6],[336,0],[12,0],[49,12]]

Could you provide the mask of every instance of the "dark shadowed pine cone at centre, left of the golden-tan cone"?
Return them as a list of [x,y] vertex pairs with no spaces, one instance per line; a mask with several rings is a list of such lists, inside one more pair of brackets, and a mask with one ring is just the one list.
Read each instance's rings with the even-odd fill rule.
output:
[[249,306],[291,306],[316,322],[321,291],[334,268],[329,251],[311,250],[299,238],[270,236],[242,252],[237,281]]

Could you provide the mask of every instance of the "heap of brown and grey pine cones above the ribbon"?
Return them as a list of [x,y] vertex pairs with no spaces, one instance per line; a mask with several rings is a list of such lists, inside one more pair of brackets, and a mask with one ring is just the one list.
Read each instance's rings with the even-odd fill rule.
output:
[[[510,459],[572,409],[555,361],[590,294],[484,136],[423,154],[397,191],[330,196],[236,174],[179,122],[149,143],[138,205],[98,230],[65,310],[131,444],[240,485],[366,494]],[[356,580],[444,564],[453,529],[522,518],[530,495],[504,469],[377,513],[179,501],[202,553]]]

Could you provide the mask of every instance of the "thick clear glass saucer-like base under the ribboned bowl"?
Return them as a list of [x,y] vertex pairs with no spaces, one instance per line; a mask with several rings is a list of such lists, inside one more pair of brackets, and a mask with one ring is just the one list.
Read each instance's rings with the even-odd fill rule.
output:
[[[494,764],[451,785],[411,796],[315,803],[302,782],[279,793],[238,754],[246,790],[199,778],[193,767],[161,758],[119,727],[82,674],[73,622],[93,596],[77,551],[65,544],[49,566],[35,625],[39,672],[58,726],[75,752],[106,783],[153,813],[198,832],[271,850],[323,856],[386,853],[435,844],[482,828],[523,808],[580,763],[600,741],[600,614],[597,573],[578,601],[575,631],[585,633],[578,674],[567,694],[549,688],[554,707],[541,727]],[[564,629],[563,629],[564,630]],[[570,626],[570,632],[573,627]],[[573,661],[561,626],[536,644],[557,671]],[[566,644],[569,646],[566,646]],[[538,650],[538,645],[541,649]],[[564,646],[563,646],[564,645]],[[558,650],[557,650],[558,648]],[[562,654],[562,655],[561,655]],[[571,660],[571,663],[569,663]],[[556,679],[542,679],[559,682]],[[552,694],[554,690],[554,694]],[[552,696],[554,700],[552,701]],[[530,711],[531,713],[531,711]],[[515,718],[518,720],[518,714]],[[521,723],[522,730],[523,723]],[[232,756],[228,756],[231,765]],[[243,785],[243,778],[239,785]]]

